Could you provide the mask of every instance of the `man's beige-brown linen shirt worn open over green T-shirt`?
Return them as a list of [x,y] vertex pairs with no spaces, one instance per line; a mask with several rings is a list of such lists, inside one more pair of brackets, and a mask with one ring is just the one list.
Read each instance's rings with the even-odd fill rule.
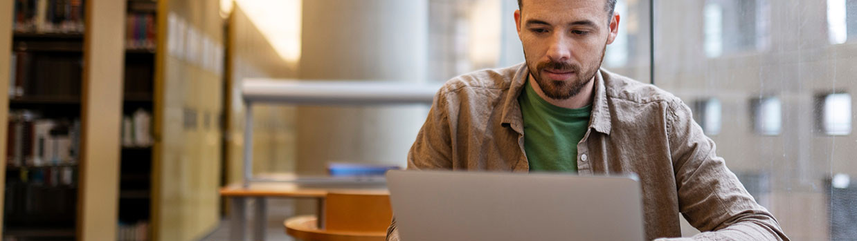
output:
[[[522,63],[447,81],[408,153],[408,169],[528,172],[518,104],[527,76]],[[692,240],[788,240],[678,97],[603,69],[594,81],[589,128],[568,148],[578,149],[580,175],[638,174],[646,240],[680,237],[679,214],[703,231]],[[399,240],[395,220],[387,240]]]

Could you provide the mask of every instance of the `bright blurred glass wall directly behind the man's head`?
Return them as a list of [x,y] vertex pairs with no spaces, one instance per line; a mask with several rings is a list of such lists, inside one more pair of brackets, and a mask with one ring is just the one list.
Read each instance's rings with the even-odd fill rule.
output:
[[[517,0],[429,0],[428,79],[446,81],[483,68],[524,62],[515,28]],[[604,67],[650,82],[649,2],[619,0],[620,34],[608,45]]]

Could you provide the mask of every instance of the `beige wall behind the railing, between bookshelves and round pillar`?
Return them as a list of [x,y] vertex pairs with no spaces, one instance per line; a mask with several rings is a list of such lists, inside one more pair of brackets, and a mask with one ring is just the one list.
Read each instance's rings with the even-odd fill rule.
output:
[[[279,56],[248,13],[235,6],[229,21],[226,103],[226,182],[243,180],[244,78],[297,77],[297,62]],[[295,109],[261,104],[253,110],[254,173],[286,173],[295,169]]]

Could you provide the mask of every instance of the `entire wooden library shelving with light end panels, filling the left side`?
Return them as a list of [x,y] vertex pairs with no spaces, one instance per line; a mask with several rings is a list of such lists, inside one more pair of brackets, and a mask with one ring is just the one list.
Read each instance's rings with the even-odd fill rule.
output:
[[[4,187],[0,195],[5,195],[0,200],[7,201],[0,238],[196,240],[210,232],[219,223],[224,57],[219,2],[0,0],[0,14],[15,15],[16,4],[24,2],[81,3],[86,15],[78,17],[86,22],[78,29],[74,27],[80,25],[63,21],[58,21],[60,26],[39,27],[29,22],[13,26],[10,21],[17,19],[0,19],[0,56],[15,54],[15,61],[0,57],[0,79],[7,81],[0,85],[0,120],[7,116],[55,120],[53,126],[79,128],[75,130],[80,138],[70,134],[68,138],[79,144],[75,162],[24,167],[7,163],[8,157],[0,159]],[[183,25],[166,24],[167,14]],[[181,42],[168,45],[165,34],[158,34],[170,31],[180,34]],[[21,71],[18,53],[26,63],[20,65]],[[6,77],[16,72],[27,75],[19,82]],[[148,131],[133,127],[146,120]],[[131,125],[123,126],[128,122]],[[132,126],[130,132],[124,131],[127,126]],[[0,136],[9,137],[8,130],[14,131],[0,128]],[[146,138],[137,141],[138,137]],[[14,155],[5,150],[7,139],[0,138],[0,154]],[[72,174],[63,173],[69,168]],[[51,219],[62,214],[58,211],[43,215],[45,222],[54,222],[51,225],[15,220],[18,209],[9,210],[16,202],[8,202],[6,194],[18,188],[15,181],[21,182],[24,169],[27,181],[39,173],[43,185],[50,179],[63,186],[71,179],[74,185],[54,191],[69,201],[51,203],[67,205],[63,210],[73,215],[62,219]],[[129,226],[135,228],[125,228]]]

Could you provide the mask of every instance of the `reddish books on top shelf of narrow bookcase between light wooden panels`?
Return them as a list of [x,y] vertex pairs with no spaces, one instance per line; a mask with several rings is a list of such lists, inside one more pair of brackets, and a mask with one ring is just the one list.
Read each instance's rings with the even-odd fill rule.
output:
[[129,13],[125,27],[125,49],[154,50],[157,26],[153,13]]

